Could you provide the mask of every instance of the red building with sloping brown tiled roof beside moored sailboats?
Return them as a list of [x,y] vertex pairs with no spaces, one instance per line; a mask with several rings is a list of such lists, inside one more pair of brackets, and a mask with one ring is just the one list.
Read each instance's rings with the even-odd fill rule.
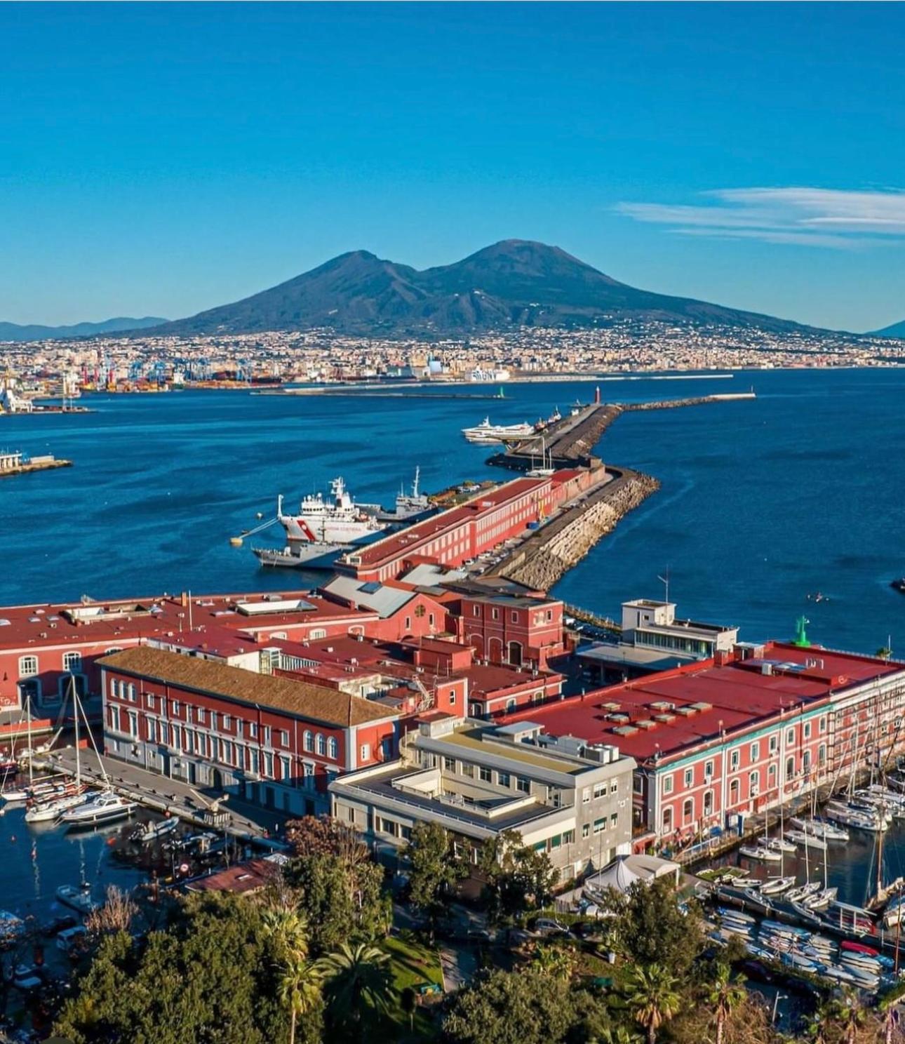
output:
[[397,755],[379,699],[149,646],[100,668],[108,754],[266,807],[326,811],[330,780]]

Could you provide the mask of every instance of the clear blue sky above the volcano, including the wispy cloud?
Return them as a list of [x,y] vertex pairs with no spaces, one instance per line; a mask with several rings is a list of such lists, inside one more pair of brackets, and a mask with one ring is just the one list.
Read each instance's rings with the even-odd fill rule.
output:
[[0,4],[0,319],[177,317],[347,250],[555,243],[905,318],[905,5]]

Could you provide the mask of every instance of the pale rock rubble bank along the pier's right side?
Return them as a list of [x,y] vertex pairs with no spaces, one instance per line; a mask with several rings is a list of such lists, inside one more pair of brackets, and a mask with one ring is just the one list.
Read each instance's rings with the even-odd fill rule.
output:
[[610,474],[609,481],[528,537],[485,575],[549,591],[621,518],[660,489],[656,478],[638,471],[611,469]]

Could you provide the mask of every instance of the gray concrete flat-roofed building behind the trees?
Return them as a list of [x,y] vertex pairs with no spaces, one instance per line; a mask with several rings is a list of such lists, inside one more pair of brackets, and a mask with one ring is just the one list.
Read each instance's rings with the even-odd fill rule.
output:
[[384,853],[404,848],[416,823],[438,823],[474,862],[483,843],[515,830],[566,881],[630,852],[634,768],[616,746],[530,721],[438,713],[406,735],[398,761],[334,780],[331,806]]

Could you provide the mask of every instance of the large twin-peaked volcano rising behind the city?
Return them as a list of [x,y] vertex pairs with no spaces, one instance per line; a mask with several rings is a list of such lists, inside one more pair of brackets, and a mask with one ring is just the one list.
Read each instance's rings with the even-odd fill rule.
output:
[[460,336],[519,326],[606,326],[621,319],[722,324],[770,332],[786,319],[639,290],[558,246],[507,239],[455,264],[418,271],[366,251],[269,290],[144,333],[262,333],[333,327],[339,333]]

